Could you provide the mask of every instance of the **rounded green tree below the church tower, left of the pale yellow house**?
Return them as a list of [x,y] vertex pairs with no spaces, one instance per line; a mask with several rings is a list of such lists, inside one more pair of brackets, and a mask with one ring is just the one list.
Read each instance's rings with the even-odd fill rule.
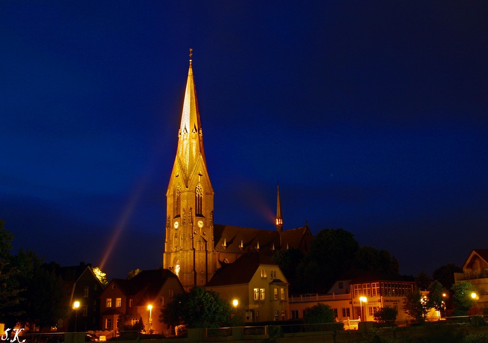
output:
[[189,328],[219,327],[229,320],[230,313],[229,303],[219,293],[193,287],[188,293],[177,294],[162,310],[159,321]]

